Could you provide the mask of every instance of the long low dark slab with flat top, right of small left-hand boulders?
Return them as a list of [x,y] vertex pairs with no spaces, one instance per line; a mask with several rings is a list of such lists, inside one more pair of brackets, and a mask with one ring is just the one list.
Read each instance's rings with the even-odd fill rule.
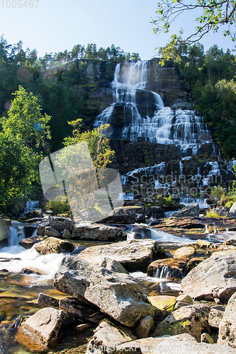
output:
[[120,241],[123,239],[123,232],[118,227],[83,222],[74,227],[72,239],[83,241]]

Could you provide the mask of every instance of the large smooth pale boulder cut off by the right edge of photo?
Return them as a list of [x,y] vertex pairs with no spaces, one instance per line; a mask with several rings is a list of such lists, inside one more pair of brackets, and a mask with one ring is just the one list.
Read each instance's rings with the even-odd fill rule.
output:
[[199,263],[182,280],[180,291],[193,299],[227,299],[236,291],[235,251],[220,251]]

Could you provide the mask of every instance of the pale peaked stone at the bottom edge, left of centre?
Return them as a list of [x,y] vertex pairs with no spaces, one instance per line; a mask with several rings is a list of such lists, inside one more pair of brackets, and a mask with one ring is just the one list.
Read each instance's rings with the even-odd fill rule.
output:
[[89,341],[86,354],[116,353],[120,344],[133,341],[135,336],[125,329],[119,329],[109,321],[102,321]]

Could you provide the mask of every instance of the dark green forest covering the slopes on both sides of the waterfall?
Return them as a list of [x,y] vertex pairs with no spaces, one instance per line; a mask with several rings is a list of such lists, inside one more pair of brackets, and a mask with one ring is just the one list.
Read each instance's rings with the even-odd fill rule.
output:
[[[199,43],[173,47],[167,64],[165,47],[158,55],[160,65],[172,65],[179,72],[189,101],[210,125],[223,156],[235,157],[235,55],[217,45],[204,52]],[[9,45],[1,36],[0,212],[17,210],[40,193],[39,161],[72,136],[67,122],[79,120],[82,133],[92,130],[102,106],[94,92],[111,86],[118,62],[140,59],[138,53],[115,45],[97,50],[95,44],[38,57],[37,50],[24,51],[23,42]],[[91,62],[99,64],[99,79],[88,75]]]

